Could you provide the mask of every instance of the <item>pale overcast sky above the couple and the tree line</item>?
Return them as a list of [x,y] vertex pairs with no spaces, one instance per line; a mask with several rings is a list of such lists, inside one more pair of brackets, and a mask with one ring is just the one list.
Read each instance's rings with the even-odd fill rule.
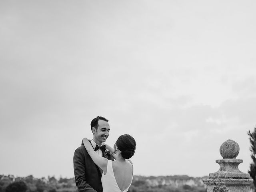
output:
[[1,0],[0,174],[73,177],[90,122],[132,135],[134,174],[206,176],[250,160],[254,0]]

